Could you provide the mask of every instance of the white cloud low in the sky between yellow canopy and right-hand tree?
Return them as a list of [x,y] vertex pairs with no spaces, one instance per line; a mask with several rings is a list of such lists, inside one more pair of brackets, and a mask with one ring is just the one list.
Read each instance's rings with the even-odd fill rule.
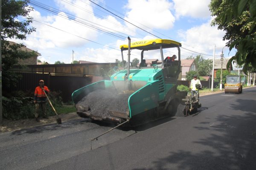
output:
[[[210,26],[210,20],[201,26],[179,31],[179,35],[183,39],[181,43],[184,48],[203,54],[212,54],[214,44],[216,45],[215,51],[218,51],[216,54],[220,54],[219,51],[226,44],[226,41],[222,40],[224,34],[225,32],[218,30],[216,26]],[[188,52],[184,49],[182,51]],[[189,53],[192,54],[193,52]],[[196,53],[194,54],[197,55]]]

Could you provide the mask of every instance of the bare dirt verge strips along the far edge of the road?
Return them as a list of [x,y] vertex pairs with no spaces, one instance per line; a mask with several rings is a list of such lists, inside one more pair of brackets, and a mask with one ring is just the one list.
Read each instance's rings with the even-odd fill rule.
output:
[[[206,96],[206,95],[218,94],[218,93],[224,93],[224,90],[200,93],[200,96]],[[60,117],[62,122],[66,122],[73,119],[83,119],[79,117],[76,114],[76,112],[61,114]],[[0,133],[26,129],[26,128],[36,127],[41,125],[53,124],[53,123],[56,123],[56,118],[57,118],[56,116],[49,116],[49,119],[40,119],[40,122],[36,122],[35,119],[24,119],[24,120],[15,120],[15,121],[3,119],[2,126],[0,127]]]

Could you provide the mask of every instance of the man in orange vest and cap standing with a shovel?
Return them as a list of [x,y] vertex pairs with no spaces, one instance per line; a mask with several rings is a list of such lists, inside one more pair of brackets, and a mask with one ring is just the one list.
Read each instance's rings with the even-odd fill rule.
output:
[[47,97],[44,94],[44,91],[46,94],[48,94],[49,89],[47,86],[44,85],[44,80],[39,81],[39,86],[35,88],[35,94],[34,94],[34,103],[35,103],[35,120],[37,122],[40,122],[39,120],[39,114],[40,111],[43,111],[43,118],[48,119],[47,113],[46,113],[46,100]]

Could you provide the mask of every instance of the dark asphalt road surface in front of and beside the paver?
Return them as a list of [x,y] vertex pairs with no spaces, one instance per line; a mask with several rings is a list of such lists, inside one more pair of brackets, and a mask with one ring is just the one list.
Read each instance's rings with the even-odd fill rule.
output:
[[73,120],[0,135],[1,170],[255,170],[256,88],[136,129]]

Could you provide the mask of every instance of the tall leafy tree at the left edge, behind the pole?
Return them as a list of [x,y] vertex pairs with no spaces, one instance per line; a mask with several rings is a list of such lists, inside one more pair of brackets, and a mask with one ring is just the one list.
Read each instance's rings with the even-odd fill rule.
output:
[[[4,90],[10,85],[15,86],[20,76],[10,69],[13,65],[19,65],[18,59],[27,59],[36,56],[35,51],[22,51],[23,44],[11,44],[10,39],[25,40],[27,34],[35,31],[35,28],[29,26],[32,23],[32,17],[29,12],[33,10],[28,5],[28,0],[2,0],[2,18],[1,18],[1,50],[2,50],[2,81],[3,95]],[[23,21],[18,17],[24,17]]]

